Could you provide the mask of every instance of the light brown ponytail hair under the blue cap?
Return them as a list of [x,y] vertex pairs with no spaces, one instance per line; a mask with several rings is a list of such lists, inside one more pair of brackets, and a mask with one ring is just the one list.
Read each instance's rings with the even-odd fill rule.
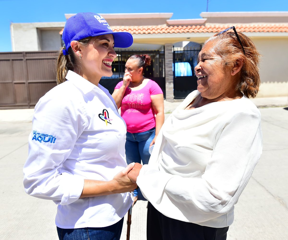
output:
[[[86,37],[84,39],[79,40],[83,46],[86,46],[92,37]],[[63,48],[65,49],[65,47]],[[57,59],[57,84],[64,83],[66,81],[66,75],[68,70],[74,71],[75,66],[77,64],[77,60],[75,58],[75,53],[72,48],[68,48],[69,55],[63,55],[62,49],[59,51],[58,59]]]

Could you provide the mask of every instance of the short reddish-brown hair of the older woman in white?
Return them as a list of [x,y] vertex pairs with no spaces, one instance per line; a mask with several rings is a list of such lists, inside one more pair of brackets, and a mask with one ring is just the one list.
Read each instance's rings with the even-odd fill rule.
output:
[[216,42],[214,50],[221,56],[224,65],[233,66],[237,59],[243,61],[243,67],[240,70],[241,79],[236,85],[236,90],[241,91],[247,98],[255,98],[260,86],[259,58],[261,55],[249,37],[243,33],[237,33],[245,54],[234,32],[215,34],[204,44],[209,41]]

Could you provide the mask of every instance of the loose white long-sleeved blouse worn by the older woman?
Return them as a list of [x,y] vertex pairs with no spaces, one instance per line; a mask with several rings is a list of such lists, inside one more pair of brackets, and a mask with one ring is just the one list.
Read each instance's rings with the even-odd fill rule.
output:
[[184,110],[198,94],[165,121],[137,184],[164,215],[221,228],[232,224],[262,153],[261,116],[245,96]]

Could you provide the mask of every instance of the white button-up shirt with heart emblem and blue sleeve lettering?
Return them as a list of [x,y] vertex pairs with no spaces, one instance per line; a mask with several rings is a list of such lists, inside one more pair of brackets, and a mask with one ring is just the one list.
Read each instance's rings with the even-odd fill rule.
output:
[[104,227],[132,204],[130,193],[79,198],[84,179],[109,181],[123,170],[126,124],[108,90],[69,71],[35,106],[25,191],[58,204],[60,228]]

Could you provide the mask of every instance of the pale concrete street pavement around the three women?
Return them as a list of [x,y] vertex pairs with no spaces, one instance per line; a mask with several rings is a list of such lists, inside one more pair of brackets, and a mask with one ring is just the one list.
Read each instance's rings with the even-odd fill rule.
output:
[[[175,106],[165,105],[166,116]],[[260,111],[263,153],[235,206],[228,240],[288,239],[288,108]],[[0,110],[0,236],[4,240],[58,239],[56,205],[27,195],[22,184],[32,115],[33,109]],[[133,207],[131,240],[146,239],[146,206],[147,201],[139,200]],[[126,228],[125,216],[123,240]]]

